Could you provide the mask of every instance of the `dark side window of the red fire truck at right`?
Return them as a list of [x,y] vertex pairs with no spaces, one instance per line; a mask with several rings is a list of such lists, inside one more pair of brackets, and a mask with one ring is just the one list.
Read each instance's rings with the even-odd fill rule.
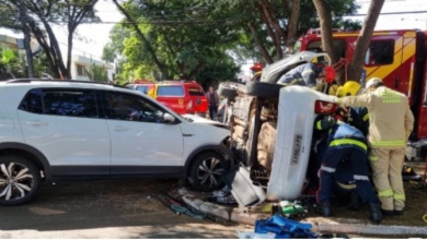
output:
[[374,40],[369,45],[365,64],[384,65],[393,63],[394,40]]

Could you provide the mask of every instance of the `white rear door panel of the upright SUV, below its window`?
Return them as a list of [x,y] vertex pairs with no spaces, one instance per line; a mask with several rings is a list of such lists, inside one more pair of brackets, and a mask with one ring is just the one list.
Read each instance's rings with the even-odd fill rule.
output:
[[51,166],[109,165],[105,119],[36,115],[18,110],[25,143],[41,151]]

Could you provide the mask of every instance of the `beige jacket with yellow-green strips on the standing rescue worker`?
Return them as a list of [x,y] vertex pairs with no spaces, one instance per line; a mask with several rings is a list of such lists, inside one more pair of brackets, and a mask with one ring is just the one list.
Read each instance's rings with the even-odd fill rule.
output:
[[368,108],[368,141],[371,147],[406,146],[414,128],[414,115],[404,94],[380,86],[359,96],[337,98],[336,101],[344,106]]

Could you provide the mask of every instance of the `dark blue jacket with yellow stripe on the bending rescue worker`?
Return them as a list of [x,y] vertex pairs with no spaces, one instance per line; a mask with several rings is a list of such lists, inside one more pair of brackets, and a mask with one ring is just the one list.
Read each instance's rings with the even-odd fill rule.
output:
[[315,123],[315,129],[327,131],[326,142],[330,149],[355,147],[365,153],[368,151],[368,144],[363,133],[345,122],[324,118]]

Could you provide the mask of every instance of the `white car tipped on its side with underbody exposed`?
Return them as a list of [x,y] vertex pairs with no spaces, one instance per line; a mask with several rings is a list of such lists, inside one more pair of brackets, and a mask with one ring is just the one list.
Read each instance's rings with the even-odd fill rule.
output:
[[[332,97],[304,86],[276,84],[290,69],[325,53],[300,52],[266,67],[259,81],[222,83],[231,116],[231,151],[264,184],[270,201],[297,199],[302,191],[311,156],[313,122],[333,113]],[[274,79],[274,80],[273,80]]]

